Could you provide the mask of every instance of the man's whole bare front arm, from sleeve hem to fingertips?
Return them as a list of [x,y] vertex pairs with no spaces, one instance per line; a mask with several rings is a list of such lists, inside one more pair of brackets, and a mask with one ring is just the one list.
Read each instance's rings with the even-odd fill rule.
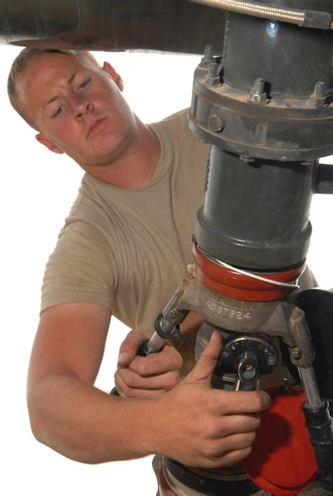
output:
[[61,304],[41,315],[28,382],[32,430],[39,441],[87,463],[160,453],[214,468],[249,453],[257,414],[269,398],[259,391],[211,389],[221,349],[218,334],[171,391],[158,398],[122,398],[93,386],[109,322],[110,311],[94,304]]

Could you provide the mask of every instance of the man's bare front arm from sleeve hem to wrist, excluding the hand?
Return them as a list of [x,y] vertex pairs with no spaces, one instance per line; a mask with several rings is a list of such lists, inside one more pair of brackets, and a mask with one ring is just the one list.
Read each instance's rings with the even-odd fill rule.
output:
[[[32,349],[27,387],[32,431],[42,443],[80,462],[149,453],[134,405],[93,386],[110,317],[109,309],[96,304],[51,307],[41,314]],[[141,407],[144,412],[145,404]]]

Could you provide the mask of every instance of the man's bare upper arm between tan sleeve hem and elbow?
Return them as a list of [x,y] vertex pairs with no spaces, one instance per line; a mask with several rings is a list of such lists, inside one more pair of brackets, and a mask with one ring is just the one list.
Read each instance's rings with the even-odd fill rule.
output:
[[50,375],[96,379],[111,311],[91,303],[58,304],[41,314],[30,360],[29,385]]

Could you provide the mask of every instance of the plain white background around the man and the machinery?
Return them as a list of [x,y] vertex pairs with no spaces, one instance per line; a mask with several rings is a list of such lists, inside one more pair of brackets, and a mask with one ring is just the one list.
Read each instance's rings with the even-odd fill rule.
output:
[[[79,166],[34,140],[11,109],[6,78],[20,48],[0,46],[1,136],[1,414],[0,494],[4,496],[154,496],[150,457],[89,466],[54,453],[30,433],[25,405],[27,365],[39,319],[44,265],[77,194]],[[152,122],[190,105],[192,74],[200,58],[153,53],[96,53],[124,79],[124,96]],[[333,140],[333,137],[332,137]],[[332,196],[315,196],[308,255],[323,288],[333,286]],[[126,328],[113,321],[98,387],[113,387],[117,351]]]

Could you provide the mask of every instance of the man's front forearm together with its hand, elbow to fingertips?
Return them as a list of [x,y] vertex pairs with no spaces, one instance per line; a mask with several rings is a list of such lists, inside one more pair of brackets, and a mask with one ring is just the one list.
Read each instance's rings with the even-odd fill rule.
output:
[[258,413],[270,398],[260,391],[212,389],[220,351],[216,332],[190,374],[151,398],[112,396],[74,375],[40,375],[28,391],[32,430],[79,462],[159,453],[190,467],[235,464],[249,455]]

